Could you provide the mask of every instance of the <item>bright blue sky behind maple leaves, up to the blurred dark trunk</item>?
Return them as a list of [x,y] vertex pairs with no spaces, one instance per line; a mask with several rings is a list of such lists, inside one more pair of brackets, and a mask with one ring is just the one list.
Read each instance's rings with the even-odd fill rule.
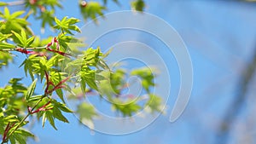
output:
[[[82,19],[76,2],[63,1],[64,9],[57,10],[57,17],[68,15]],[[129,2],[122,1],[120,7],[109,3],[108,12],[128,10]],[[165,55],[166,51],[160,50],[160,48],[165,49],[164,44],[156,40],[148,43],[150,36],[136,33],[139,36],[136,37],[137,41],[148,43],[160,52],[164,60],[170,61],[168,68],[171,71],[172,94],[167,103],[169,108],[166,115],[160,116],[144,130],[131,135],[105,135],[98,132],[91,135],[89,129],[79,124],[77,119],[69,114],[67,117],[72,123],[57,123],[57,131],[53,130],[49,124],[42,129],[41,124],[36,123],[32,131],[38,135],[40,139],[38,143],[170,144],[202,141],[202,143],[212,143],[216,124],[236,93],[237,78],[241,75],[241,70],[249,60],[255,45],[255,5],[223,1],[170,0],[157,2],[146,0],[146,3],[146,12],[166,20],[183,37],[192,58],[194,87],[189,105],[183,115],[175,123],[169,122],[179,82],[178,67],[173,55]],[[38,29],[40,22],[31,20],[32,29],[40,34]],[[83,25],[83,22],[79,24],[79,26]],[[132,36],[132,32],[126,33]],[[42,37],[52,34],[46,31]],[[19,55],[15,57],[16,65],[3,69],[0,73],[1,86],[13,76],[25,77],[23,70],[18,68],[23,59],[24,56]],[[24,82],[29,84],[30,80],[25,78]],[[31,143],[34,142],[31,141]]]

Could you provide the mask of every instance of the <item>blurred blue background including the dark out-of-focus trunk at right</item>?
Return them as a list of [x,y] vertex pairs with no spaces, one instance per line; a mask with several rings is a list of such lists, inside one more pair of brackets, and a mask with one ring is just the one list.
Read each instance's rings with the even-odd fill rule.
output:
[[[62,3],[64,8],[57,9],[57,17],[83,19],[77,1],[63,0]],[[70,114],[67,118],[72,123],[57,122],[57,131],[49,124],[42,129],[41,124],[36,123],[32,132],[38,135],[39,140],[29,143],[256,143],[256,3],[235,0],[146,0],[145,3],[145,12],[166,20],[177,30],[189,49],[194,68],[194,87],[183,115],[174,123],[169,122],[178,91],[177,81],[172,80],[174,84],[167,102],[166,115],[161,115],[143,130],[130,135],[91,132],[84,125],[76,123],[77,118]],[[23,7],[15,6],[11,9]],[[108,12],[130,9],[129,0],[120,1],[119,5],[110,1],[108,3]],[[41,34],[38,28],[40,22],[30,19],[35,33],[42,37],[52,35],[47,28]],[[81,22],[79,26],[85,23]],[[137,38],[144,38],[147,42],[143,35]],[[16,78],[25,77],[23,70],[18,68],[23,58],[18,56],[15,58],[16,65],[3,68],[0,72],[0,86],[14,75]],[[165,59],[168,59],[168,55],[165,55]],[[178,73],[177,64],[173,65],[174,68],[168,68]],[[175,79],[173,77],[176,75],[171,78]]]

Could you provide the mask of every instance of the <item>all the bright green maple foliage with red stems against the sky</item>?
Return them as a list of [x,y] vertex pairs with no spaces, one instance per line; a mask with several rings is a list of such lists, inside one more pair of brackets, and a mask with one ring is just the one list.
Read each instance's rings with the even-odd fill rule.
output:
[[[118,0],[113,0],[118,3]],[[108,1],[101,3],[90,1],[80,4],[81,14],[85,20],[96,20],[103,16],[107,9]],[[9,3],[0,2],[0,6],[9,6]],[[100,47],[88,48],[81,51],[84,43],[73,36],[73,32],[81,32],[76,24],[80,21],[67,16],[59,20],[55,17],[55,9],[61,8],[60,1],[55,0],[25,0],[28,11],[16,11],[13,14],[5,7],[0,11],[0,69],[8,65],[13,59],[12,51],[26,55],[23,66],[24,72],[32,79],[32,84],[26,87],[21,84],[21,78],[12,78],[9,84],[0,88],[0,135],[2,143],[26,143],[27,138],[34,137],[29,131],[24,130],[31,118],[42,119],[42,126],[48,121],[57,130],[55,121],[69,123],[66,113],[73,112],[67,107],[64,94],[67,98],[76,100],[78,105],[75,110],[80,121],[94,128],[93,120],[98,116],[96,109],[84,102],[88,93],[107,96],[114,112],[123,117],[131,117],[148,107],[150,112],[160,112],[162,100],[151,93],[154,88],[154,73],[148,68],[140,68],[131,72],[118,67],[111,69],[104,58],[111,52],[102,53]],[[132,7],[142,11],[143,0],[132,2]],[[44,28],[49,25],[55,32],[54,36],[44,39],[34,35],[27,21],[30,16],[41,20]],[[126,78],[137,76],[141,78],[143,93],[138,95],[125,94]],[[38,82],[38,79],[40,82]],[[44,83],[42,90],[35,91],[37,83]],[[72,86],[75,88],[72,88]],[[80,87],[76,88],[77,85]],[[40,88],[38,88],[40,89]],[[68,93],[67,93],[68,92]],[[59,99],[54,95],[58,95]],[[144,99],[143,95],[148,95]],[[30,117],[30,118],[29,118]],[[28,120],[29,118],[29,120]]]

